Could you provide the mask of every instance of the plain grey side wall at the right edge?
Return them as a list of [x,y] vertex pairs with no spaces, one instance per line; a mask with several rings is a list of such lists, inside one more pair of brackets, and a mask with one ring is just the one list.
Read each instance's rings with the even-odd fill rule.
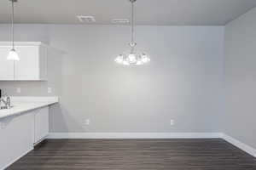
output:
[[256,148],[256,8],[225,27],[224,133]]

